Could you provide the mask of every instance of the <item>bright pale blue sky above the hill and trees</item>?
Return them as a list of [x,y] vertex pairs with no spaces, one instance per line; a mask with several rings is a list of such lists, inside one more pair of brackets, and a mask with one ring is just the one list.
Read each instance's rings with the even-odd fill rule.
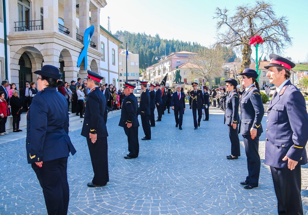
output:
[[[215,8],[226,7],[234,11],[236,5],[249,2],[254,4],[253,1],[244,0],[107,0],[107,6],[100,11],[100,24],[107,29],[107,16],[110,16],[112,33],[117,30],[151,35],[158,33],[163,39],[174,38],[209,46],[216,41]],[[291,57],[295,62],[306,61],[308,1],[271,2],[277,16],[286,15],[289,18],[289,35],[293,38],[293,44],[283,50],[282,55]],[[264,53],[267,58],[269,54]]]

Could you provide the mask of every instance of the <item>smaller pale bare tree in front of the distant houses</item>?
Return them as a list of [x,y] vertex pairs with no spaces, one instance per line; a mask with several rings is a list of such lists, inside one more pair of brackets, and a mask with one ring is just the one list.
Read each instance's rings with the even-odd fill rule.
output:
[[209,82],[209,88],[212,88],[212,80],[216,76],[221,77],[221,73],[224,72],[222,65],[225,63],[225,52],[221,45],[205,48],[198,52],[197,55],[189,58],[191,64],[192,74],[191,79],[201,76]]

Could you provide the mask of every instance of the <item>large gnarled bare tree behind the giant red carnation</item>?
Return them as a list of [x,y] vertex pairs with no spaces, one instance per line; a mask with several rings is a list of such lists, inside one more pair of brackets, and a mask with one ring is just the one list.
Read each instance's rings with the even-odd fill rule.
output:
[[260,35],[264,41],[262,47],[270,52],[280,53],[292,44],[288,19],[286,16],[276,17],[270,2],[257,0],[254,6],[237,6],[234,15],[229,15],[226,8],[217,7],[213,18],[218,19],[217,30],[224,31],[218,32],[217,43],[241,48],[243,61],[240,71],[250,66],[252,49],[249,39],[252,36]]

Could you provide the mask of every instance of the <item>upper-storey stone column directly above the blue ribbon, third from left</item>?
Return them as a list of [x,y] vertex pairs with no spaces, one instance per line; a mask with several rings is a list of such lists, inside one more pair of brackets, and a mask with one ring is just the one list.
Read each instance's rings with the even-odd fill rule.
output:
[[79,0],[79,34],[83,36],[88,27],[90,27],[90,0]]

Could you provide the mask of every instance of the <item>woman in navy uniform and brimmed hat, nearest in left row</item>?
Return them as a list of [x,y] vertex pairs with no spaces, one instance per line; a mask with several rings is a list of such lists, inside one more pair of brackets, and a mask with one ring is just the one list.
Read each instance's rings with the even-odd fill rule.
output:
[[39,75],[39,92],[27,114],[27,159],[43,188],[47,213],[67,214],[67,158],[76,150],[68,136],[67,101],[56,90],[61,75],[51,65],[34,73]]

